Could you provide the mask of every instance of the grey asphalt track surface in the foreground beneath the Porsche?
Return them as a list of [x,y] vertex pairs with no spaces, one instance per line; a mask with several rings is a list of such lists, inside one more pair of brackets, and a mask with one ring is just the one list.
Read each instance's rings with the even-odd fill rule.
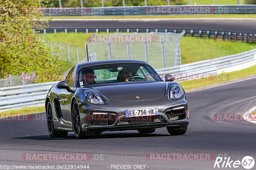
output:
[[[118,131],[80,140],[75,138],[74,133],[69,133],[67,138],[51,138],[45,113],[33,115],[39,120],[0,121],[0,164],[89,165],[90,170],[107,170],[111,169],[111,165],[145,165],[145,169],[154,170],[205,170],[223,168],[213,168],[215,157],[212,160],[148,160],[146,155],[213,153],[215,156],[226,154],[232,160],[241,161],[244,156],[252,156],[256,160],[256,124],[213,119],[217,113],[244,113],[254,107],[255,84],[256,78],[253,78],[187,93],[190,122],[187,133],[182,136],[170,136],[166,128],[160,128],[153,134],[144,135],[137,131]],[[94,160],[29,161],[22,159],[26,153],[89,153]],[[104,154],[104,160],[95,160],[95,154]],[[236,169],[244,168],[240,165]]]

